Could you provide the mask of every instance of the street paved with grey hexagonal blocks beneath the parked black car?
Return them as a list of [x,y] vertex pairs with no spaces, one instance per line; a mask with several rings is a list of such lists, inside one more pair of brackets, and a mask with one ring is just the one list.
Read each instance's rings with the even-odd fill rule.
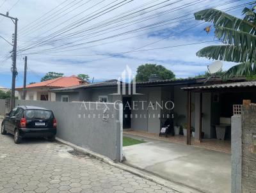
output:
[[[70,151],[70,152],[69,152]],[[60,143],[0,134],[0,192],[174,192]]]

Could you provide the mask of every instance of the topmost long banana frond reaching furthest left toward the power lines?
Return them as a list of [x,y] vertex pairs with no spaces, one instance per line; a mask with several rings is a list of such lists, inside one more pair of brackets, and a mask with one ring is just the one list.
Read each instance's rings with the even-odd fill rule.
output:
[[256,26],[252,22],[239,19],[225,12],[216,9],[207,9],[196,12],[196,20],[205,20],[206,22],[213,22],[214,26],[227,27],[239,31],[244,31],[256,35]]

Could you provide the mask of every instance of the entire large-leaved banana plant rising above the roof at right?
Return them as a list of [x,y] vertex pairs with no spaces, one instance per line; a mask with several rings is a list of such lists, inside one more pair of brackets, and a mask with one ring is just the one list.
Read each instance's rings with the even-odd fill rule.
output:
[[196,55],[208,59],[239,63],[233,66],[223,77],[252,76],[256,74],[256,14],[252,9],[244,8],[244,19],[239,19],[215,9],[195,13],[196,20],[213,22],[214,35],[225,45],[211,45],[199,50]]

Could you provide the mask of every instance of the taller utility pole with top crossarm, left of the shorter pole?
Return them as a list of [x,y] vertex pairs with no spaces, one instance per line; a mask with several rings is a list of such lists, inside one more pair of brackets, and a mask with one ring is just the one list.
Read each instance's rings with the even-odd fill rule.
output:
[[16,54],[17,54],[17,30],[18,30],[18,19],[10,17],[7,12],[6,15],[0,13],[3,17],[12,19],[13,24],[15,25],[14,36],[13,36],[13,50],[12,50],[12,92],[11,92],[11,104],[10,107],[13,109],[15,107],[15,80],[17,76],[17,67],[16,67]]

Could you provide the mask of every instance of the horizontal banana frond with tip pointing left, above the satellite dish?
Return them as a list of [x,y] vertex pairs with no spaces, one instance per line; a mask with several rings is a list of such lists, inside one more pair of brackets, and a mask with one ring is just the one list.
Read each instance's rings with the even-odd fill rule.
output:
[[256,50],[242,49],[241,46],[236,45],[211,45],[196,52],[196,56],[244,63],[246,61],[255,61]]

